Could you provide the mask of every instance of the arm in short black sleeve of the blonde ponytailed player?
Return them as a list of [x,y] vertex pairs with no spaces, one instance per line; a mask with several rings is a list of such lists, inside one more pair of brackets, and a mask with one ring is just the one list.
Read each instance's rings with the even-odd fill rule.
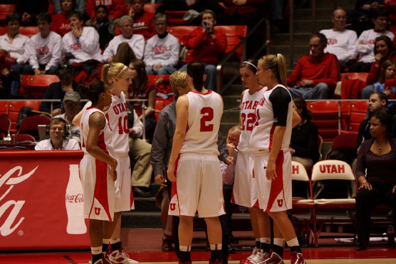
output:
[[281,87],[275,88],[269,96],[269,101],[272,103],[274,120],[276,120],[274,123],[275,130],[272,137],[272,148],[269,153],[266,169],[266,177],[269,180],[274,180],[277,177],[275,161],[282,148],[283,136],[286,131],[288,108],[291,100],[292,98],[286,89]]

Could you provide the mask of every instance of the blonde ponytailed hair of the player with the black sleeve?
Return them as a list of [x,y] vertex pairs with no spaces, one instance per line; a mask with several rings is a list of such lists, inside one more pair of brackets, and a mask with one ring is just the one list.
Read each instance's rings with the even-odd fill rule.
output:
[[287,87],[287,67],[286,59],[281,54],[265,55],[258,60],[258,64],[264,69],[270,69],[274,78],[282,85]]

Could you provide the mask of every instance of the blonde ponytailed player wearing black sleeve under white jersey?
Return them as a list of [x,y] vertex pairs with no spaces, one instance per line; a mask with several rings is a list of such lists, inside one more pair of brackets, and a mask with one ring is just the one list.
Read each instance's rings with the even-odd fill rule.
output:
[[[293,125],[300,120],[293,111],[286,86],[286,61],[282,54],[265,55],[257,65],[258,81],[266,85],[256,108],[257,122],[250,137],[254,150],[254,177],[260,207],[274,221],[291,250],[292,264],[305,264],[287,210],[292,208],[292,156],[289,144]],[[265,264],[283,263],[272,253]]]

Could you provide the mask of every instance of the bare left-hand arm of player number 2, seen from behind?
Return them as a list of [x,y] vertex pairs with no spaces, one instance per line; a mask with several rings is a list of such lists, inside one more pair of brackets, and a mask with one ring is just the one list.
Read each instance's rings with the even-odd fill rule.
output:
[[181,96],[176,102],[176,129],[173,136],[172,152],[169,158],[167,175],[172,182],[176,181],[175,163],[183,146],[188,124],[189,100],[186,96]]

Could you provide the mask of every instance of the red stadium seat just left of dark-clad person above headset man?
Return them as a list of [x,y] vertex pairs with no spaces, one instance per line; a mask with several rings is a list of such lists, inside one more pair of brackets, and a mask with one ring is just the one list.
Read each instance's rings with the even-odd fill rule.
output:
[[49,85],[59,82],[57,75],[29,75],[27,94],[29,99],[43,99]]

